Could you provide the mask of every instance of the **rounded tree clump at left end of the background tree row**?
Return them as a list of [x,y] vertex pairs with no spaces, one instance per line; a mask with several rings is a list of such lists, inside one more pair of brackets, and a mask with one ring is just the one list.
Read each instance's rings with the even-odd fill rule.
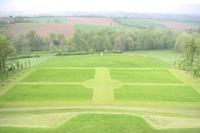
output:
[[13,44],[17,53],[29,53],[31,51],[62,51],[67,43],[62,34],[51,33],[49,37],[42,38],[35,31],[30,31],[13,40]]

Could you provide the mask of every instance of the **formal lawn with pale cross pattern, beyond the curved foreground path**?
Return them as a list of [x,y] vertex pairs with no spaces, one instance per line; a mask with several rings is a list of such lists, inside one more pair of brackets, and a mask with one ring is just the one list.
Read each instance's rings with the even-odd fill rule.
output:
[[[93,88],[84,86],[88,80],[95,79],[96,71],[100,68],[108,69],[108,72],[102,72],[106,74],[107,81],[100,84],[95,81]],[[4,106],[7,102],[11,103],[9,106],[12,106],[12,102],[17,106],[16,101],[29,101],[30,104],[33,101],[38,102],[38,105],[42,101],[49,105],[52,101],[66,104],[70,101],[84,104],[87,101],[86,105],[90,101],[90,104],[96,104],[98,99],[95,92],[105,94],[98,97],[101,99],[114,97],[112,103],[200,102],[200,94],[173,75],[169,69],[168,64],[158,59],[130,54],[54,57],[36,67],[21,82],[10,88],[0,97],[0,103]],[[97,80],[104,79],[104,76],[98,73]],[[110,86],[111,80],[118,81],[119,87]],[[101,85],[103,83],[108,86]],[[110,89],[111,93],[97,91],[101,86]],[[103,100],[102,104],[107,103]]]

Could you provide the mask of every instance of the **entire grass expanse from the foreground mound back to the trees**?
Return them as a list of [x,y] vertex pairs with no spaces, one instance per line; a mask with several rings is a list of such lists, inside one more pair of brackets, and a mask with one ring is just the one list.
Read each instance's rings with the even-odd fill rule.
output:
[[0,132],[199,133],[199,79],[168,52],[45,60],[0,86]]

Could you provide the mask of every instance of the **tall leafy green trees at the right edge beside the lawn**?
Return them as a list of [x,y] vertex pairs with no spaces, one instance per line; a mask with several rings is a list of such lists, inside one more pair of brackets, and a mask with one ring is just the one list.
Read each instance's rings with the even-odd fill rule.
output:
[[178,67],[191,72],[195,78],[200,77],[200,35],[181,33],[177,37],[175,49],[181,53]]

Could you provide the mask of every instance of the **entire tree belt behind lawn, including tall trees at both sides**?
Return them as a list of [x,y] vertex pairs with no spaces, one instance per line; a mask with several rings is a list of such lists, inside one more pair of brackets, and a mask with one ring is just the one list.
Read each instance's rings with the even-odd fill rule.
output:
[[[17,53],[32,51],[52,52],[124,52],[133,50],[174,49],[181,53],[177,66],[194,77],[200,76],[200,35],[198,33],[176,33],[170,30],[153,28],[138,31],[116,31],[102,29],[98,31],[77,31],[72,38],[66,39],[62,34],[51,33],[48,37],[40,37],[30,31],[14,40],[1,35],[1,72],[11,49]],[[12,46],[12,48],[11,48]],[[10,49],[11,48],[11,49]],[[6,57],[3,53],[6,52]]]

